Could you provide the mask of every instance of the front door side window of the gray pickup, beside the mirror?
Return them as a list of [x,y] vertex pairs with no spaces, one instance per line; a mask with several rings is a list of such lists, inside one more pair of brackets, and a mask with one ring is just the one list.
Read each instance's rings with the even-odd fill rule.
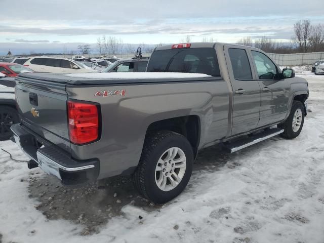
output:
[[274,63],[261,52],[251,51],[254,63],[257,67],[260,79],[274,79],[277,75],[277,68]]

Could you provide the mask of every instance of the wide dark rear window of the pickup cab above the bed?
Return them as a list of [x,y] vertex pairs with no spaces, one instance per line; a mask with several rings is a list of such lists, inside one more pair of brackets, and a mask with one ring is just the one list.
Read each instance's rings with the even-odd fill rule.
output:
[[214,48],[181,48],[152,53],[148,72],[189,72],[220,76]]

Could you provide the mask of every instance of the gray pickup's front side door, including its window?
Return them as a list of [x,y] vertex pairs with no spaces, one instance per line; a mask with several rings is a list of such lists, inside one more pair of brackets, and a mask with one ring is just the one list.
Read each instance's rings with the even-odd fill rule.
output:
[[257,51],[251,51],[251,54],[261,87],[258,127],[263,127],[286,117],[290,86],[285,79],[278,79],[279,69],[270,58]]

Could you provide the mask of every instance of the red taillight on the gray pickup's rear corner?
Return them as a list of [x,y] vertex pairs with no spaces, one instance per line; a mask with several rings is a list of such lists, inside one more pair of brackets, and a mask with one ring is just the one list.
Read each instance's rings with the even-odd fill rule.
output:
[[98,106],[94,104],[67,102],[69,138],[72,143],[84,144],[99,137]]

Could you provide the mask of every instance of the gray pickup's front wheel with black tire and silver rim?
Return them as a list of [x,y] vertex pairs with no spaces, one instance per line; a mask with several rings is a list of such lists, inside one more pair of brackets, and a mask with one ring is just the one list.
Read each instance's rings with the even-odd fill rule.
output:
[[[299,110],[300,112],[297,112],[297,110]],[[297,114],[299,118],[294,119],[294,116]],[[303,103],[298,100],[294,100],[292,109],[290,111],[287,120],[285,121],[285,123],[279,126],[280,128],[283,128],[285,130],[284,133],[282,133],[282,137],[288,139],[296,138],[303,129],[304,118],[305,118],[305,107]],[[293,123],[299,125],[295,126],[294,128]],[[298,130],[296,130],[297,128]]]

